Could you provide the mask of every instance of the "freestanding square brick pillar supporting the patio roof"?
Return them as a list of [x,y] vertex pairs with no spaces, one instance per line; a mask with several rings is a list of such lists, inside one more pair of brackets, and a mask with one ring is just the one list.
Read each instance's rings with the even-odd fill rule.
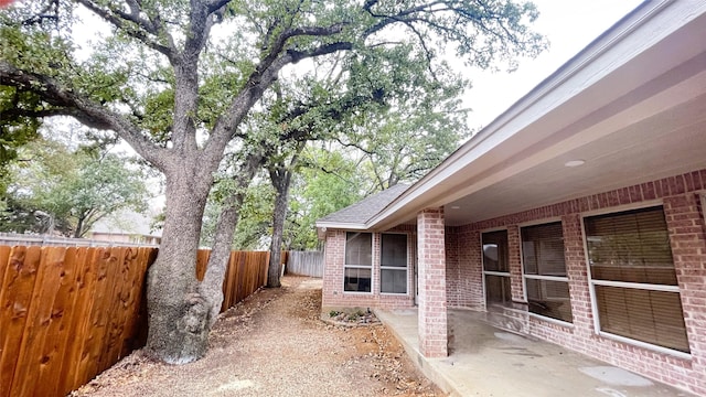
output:
[[448,355],[443,208],[417,215],[419,249],[419,350],[425,357]]

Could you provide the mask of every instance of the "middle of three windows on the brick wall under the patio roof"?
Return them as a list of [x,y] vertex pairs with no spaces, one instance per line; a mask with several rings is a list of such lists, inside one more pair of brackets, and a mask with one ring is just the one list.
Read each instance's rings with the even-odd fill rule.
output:
[[522,262],[530,312],[571,322],[560,222],[522,228]]

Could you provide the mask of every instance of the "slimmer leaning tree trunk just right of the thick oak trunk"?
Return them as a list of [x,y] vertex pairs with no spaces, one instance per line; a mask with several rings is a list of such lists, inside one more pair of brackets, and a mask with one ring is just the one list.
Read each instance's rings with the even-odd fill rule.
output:
[[263,155],[260,153],[248,154],[236,173],[235,191],[226,197],[223,211],[218,215],[216,235],[211,249],[211,257],[208,257],[208,267],[199,288],[200,293],[213,303],[208,315],[208,328],[213,326],[213,323],[217,320],[223,304],[223,279],[231,258],[233,235],[238,223],[240,205],[245,198],[247,186],[253,181],[261,160]]

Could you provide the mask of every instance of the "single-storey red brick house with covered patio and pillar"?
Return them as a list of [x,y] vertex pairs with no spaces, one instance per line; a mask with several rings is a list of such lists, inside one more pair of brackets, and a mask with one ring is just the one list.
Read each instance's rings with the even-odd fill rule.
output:
[[706,2],[644,2],[411,186],[317,222],[323,307],[447,310],[706,395]]

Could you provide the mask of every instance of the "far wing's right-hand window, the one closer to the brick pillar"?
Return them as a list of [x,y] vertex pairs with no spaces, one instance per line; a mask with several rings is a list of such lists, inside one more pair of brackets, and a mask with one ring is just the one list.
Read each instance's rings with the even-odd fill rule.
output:
[[407,293],[407,235],[381,235],[379,291]]

